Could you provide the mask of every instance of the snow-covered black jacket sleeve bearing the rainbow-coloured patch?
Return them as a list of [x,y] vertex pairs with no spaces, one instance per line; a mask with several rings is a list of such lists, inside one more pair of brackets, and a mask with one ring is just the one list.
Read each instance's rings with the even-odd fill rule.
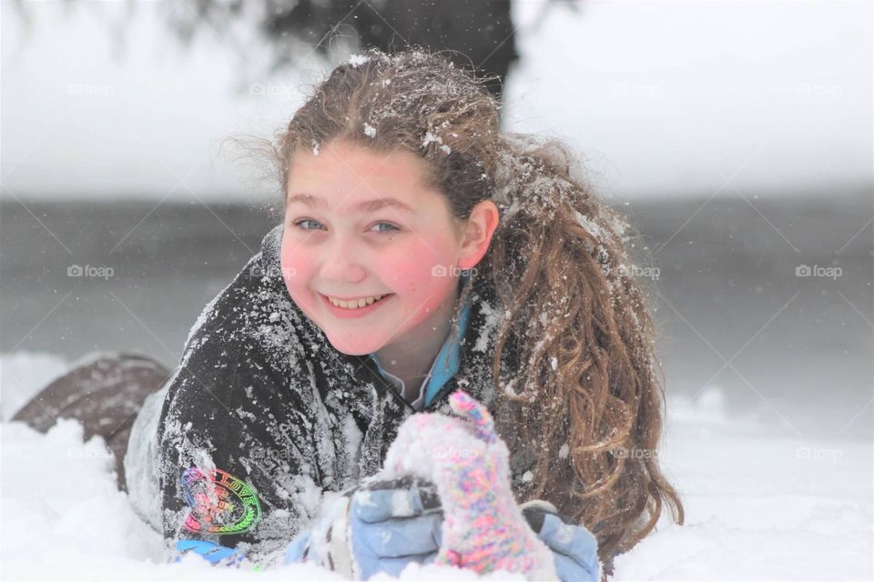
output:
[[[168,386],[158,448],[171,551],[198,539],[269,562],[318,512],[307,366],[268,296],[244,269],[204,311]],[[265,326],[282,318],[282,333]]]

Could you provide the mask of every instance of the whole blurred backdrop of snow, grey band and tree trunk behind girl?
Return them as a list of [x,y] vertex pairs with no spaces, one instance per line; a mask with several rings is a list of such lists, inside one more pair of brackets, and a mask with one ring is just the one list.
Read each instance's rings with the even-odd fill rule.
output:
[[640,230],[670,398],[871,437],[869,2],[0,6],[4,418],[96,351],[175,366],[279,219],[269,160],[229,138],[414,43],[502,79],[504,129],[574,146]]

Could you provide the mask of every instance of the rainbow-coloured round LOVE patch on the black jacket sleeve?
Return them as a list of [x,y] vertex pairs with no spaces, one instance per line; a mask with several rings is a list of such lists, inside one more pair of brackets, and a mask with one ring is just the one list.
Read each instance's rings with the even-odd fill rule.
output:
[[241,534],[255,527],[261,506],[252,487],[221,469],[189,467],[179,477],[182,493],[191,506],[185,528],[211,534]]

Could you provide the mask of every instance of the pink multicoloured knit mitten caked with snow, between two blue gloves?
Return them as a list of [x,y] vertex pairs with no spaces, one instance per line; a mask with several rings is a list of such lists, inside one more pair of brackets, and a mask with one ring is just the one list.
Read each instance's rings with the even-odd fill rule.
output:
[[557,579],[553,553],[516,505],[509,451],[492,415],[461,390],[450,404],[461,418],[416,414],[401,425],[380,477],[414,476],[436,485],[443,509],[437,564]]

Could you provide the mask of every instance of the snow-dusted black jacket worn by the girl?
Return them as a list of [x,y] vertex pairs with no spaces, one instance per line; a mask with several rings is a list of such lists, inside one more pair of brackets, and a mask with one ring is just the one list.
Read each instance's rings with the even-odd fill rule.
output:
[[[158,424],[165,538],[206,539],[261,562],[310,524],[323,492],[375,474],[415,412],[371,358],[340,353],[291,301],[280,243],[281,226],[205,308]],[[472,310],[460,368],[426,412],[450,414],[457,388],[493,402],[503,309],[475,277],[464,287]],[[533,458],[508,446],[515,489]]]

